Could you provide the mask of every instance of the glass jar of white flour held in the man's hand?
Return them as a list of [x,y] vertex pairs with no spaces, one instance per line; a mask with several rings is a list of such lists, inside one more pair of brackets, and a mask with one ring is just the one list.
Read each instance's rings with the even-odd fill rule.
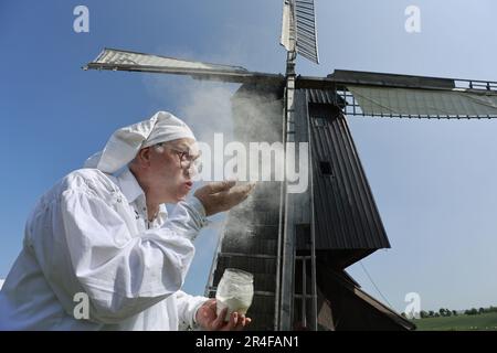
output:
[[254,276],[237,268],[226,268],[215,292],[218,315],[228,307],[224,321],[233,312],[246,314],[254,297]]

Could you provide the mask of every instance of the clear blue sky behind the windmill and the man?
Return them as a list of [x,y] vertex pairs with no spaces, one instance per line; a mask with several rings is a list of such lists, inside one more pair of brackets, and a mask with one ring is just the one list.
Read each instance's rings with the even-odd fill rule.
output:
[[[283,73],[281,2],[1,1],[0,278],[21,248],[36,199],[116,128],[163,109],[200,135],[225,129],[219,116],[229,111],[235,85],[82,65],[108,46]],[[89,33],[73,31],[77,4],[89,9]],[[421,9],[421,33],[404,30],[411,4]],[[298,60],[300,74],[342,68],[497,82],[495,1],[316,0],[316,7],[321,63]],[[349,122],[392,244],[362,264],[388,301],[403,310],[404,296],[417,292],[422,309],[496,304],[497,121]],[[203,292],[215,240],[215,231],[197,240],[187,291]],[[350,272],[379,297],[359,265]]]

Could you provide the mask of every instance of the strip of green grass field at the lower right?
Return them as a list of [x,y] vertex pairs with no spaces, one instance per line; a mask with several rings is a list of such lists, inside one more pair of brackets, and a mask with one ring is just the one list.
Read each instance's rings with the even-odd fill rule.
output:
[[419,331],[497,331],[497,312],[413,320]]

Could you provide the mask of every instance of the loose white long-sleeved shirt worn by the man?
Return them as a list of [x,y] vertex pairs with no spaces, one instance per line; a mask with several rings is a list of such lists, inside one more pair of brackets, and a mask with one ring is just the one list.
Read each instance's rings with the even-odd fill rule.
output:
[[[28,218],[23,248],[0,291],[0,330],[178,330],[207,300],[182,292],[207,223],[195,197],[148,223],[135,176],[74,171]],[[87,295],[89,320],[81,297]],[[82,295],[80,295],[82,296]]]

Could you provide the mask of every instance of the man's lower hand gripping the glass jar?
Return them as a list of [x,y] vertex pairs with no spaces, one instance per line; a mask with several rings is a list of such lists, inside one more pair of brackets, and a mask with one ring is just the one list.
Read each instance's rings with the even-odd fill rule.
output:
[[197,310],[197,324],[208,331],[241,331],[251,323],[251,318],[245,318],[237,312],[230,315],[230,321],[224,321],[228,308],[224,308],[219,317],[215,314],[215,299],[205,301],[202,307]]

